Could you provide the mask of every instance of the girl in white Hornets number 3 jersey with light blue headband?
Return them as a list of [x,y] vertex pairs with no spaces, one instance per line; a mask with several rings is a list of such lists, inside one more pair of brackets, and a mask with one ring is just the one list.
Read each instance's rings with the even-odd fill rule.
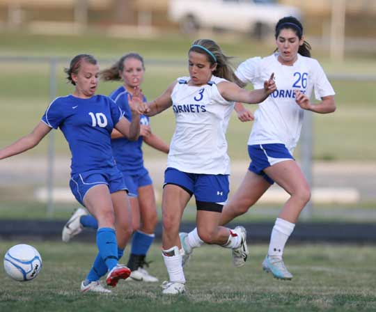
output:
[[246,260],[246,232],[219,226],[228,196],[230,159],[226,129],[233,102],[258,103],[276,90],[273,75],[262,88],[246,91],[219,46],[196,40],[189,49],[189,77],[181,77],[142,114],[153,116],[173,107],[176,118],[162,198],[162,255],[169,273],[163,294],[185,292],[179,226],[192,195],[196,198],[198,235],[208,244],[233,250],[234,261]]

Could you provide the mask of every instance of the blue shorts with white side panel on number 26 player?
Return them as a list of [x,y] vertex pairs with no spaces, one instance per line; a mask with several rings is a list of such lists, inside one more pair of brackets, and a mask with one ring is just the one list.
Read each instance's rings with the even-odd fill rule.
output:
[[282,143],[249,145],[248,154],[251,157],[248,170],[263,176],[270,184],[274,184],[274,181],[267,176],[264,169],[284,160],[294,159],[285,144]]

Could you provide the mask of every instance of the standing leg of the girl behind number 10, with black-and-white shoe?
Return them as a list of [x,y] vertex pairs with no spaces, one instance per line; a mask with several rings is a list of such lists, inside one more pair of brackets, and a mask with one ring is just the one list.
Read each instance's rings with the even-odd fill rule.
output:
[[157,277],[150,275],[145,269],[145,266],[148,266],[148,263],[146,263],[146,254],[154,240],[154,231],[158,220],[152,184],[139,187],[138,195],[137,199],[141,225],[140,228],[136,229],[132,237],[132,249],[128,267],[132,270],[132,279],[156,282],[158,281]]

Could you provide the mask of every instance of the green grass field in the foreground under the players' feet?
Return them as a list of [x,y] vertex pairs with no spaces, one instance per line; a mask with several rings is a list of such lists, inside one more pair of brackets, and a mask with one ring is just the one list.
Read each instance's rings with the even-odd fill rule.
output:
[[[19,242],[0,242],[1,254]],[[1,311],[374,311],[376,251],[371,246],[290,245],[285,263],[295,278],[277,281],[260,263],[266,245],[250,247],[249,261],[231,265],[230,251],[201,247],[185,270],[187,295],[164,297],[159,283],[120,281],[112,295],[79,293],[95,244],[33,242],[43,268],[34,281],[11,281],[0,272]],[[126,252],[127,254],[127,252]],[[125,256],[125,261],[127,256]],[[148,253],[149,271],[167,279],[159,244]]]

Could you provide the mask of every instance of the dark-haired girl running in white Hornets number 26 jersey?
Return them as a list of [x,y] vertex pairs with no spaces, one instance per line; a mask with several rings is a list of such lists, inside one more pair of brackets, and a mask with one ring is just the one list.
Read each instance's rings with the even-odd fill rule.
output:
[[[295,17],[284,17],[276,24],[275,37],[275,54],[248,59],[237,68],[237,77],[255,88],[260,88],[265,77],[274,72],[278,90],[255,113],[248,141],[251,165],[240,188],[224,206],[220,224],[247,212],[274,182],[283,187],[290,198],[276,219],[263,269],[277,279],[292,279],[283,263],[283,248],[311,197],[308,182],[292,152],[299,140],[304,110],[328,114],[336,110],[336,104],[324,71],[310,57],[311,46],[304,41],[301,23]],[[318,104],[310,101],[313,88],[315,97],[321,100]],[[237,111],[242,111],[241,107]],[[195,231],[187,238],[187,254],[203,243]]]

